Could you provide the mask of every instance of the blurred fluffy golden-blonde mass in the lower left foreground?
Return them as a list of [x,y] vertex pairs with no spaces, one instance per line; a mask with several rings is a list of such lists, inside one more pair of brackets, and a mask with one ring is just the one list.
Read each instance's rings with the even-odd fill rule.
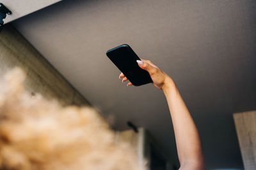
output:
[[97,111],[31,97],[24,79],[15,68],[0,84],[0,169],[139,169]]

